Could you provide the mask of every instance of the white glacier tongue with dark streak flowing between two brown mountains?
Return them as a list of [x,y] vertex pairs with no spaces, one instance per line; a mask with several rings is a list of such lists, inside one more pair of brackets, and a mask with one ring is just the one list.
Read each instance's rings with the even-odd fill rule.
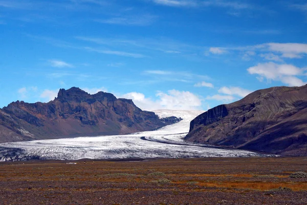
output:
[[115,158],[241,157],[265,156],[184,142],[190,121],[203,111],[156,110],[159,117],[183,118],[155,131],[129,135],[77,137],[0,144],[0,161],[28,159],[76,160]]

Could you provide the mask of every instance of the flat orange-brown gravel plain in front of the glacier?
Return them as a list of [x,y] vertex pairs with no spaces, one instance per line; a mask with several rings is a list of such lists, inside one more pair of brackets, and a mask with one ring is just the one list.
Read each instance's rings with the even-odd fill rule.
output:
[[0,163],[0,204],[307,204],[302,157],[67,162]]

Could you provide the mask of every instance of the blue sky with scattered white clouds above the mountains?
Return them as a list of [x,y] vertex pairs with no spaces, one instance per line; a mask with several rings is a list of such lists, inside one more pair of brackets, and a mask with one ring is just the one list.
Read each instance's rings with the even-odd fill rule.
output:
[[79,87],[201,109],[307,82],[307,2],[0,0],[0,107]]

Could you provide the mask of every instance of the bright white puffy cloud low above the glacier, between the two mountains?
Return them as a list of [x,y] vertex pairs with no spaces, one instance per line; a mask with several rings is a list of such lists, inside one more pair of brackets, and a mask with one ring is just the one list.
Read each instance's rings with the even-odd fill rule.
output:
[[158,91],[157,100],[146,98],[143,93],[137,92],[127,93],[121,97],[132,99],[136,106],[144,110],[202,110],[202,100],[188,91],[169,90],[167,93]]

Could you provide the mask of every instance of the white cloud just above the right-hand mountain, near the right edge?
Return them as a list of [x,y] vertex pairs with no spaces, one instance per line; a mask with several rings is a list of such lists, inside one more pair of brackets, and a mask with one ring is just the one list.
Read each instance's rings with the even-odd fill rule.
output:
[[276,64],[273,62],[258,64],[257,66],[247,69],[250,74],[258,75],[261,81],[264,78],[267,80],[279,80],[289,86],[302,86],[305,83],[297,75],[302,75],[304,69],[297,68],[289,64]]

